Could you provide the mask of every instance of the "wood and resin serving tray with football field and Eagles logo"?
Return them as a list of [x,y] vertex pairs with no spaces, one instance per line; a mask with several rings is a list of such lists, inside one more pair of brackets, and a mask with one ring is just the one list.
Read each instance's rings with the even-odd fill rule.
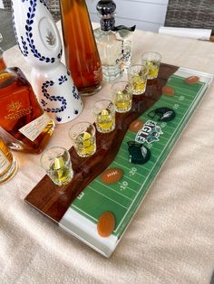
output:
[[[198,76],[199,82],[187,84],[185,79],[190,76]],[[25,201],[109,257],[211,82],[208,73],[161,64],[158,80],[149,81],[145,94],[133,97],[131,111],[117,114],[115,130],[107,135],[97,133],[97,151],[92,157],[80,158],[70,149],[71,184],[59,190],[45,175]],[[164,85],[174,90],[174,96],[161,94]],[[160,120],[154,116],[160,108],[170,109],[175,117]],[[141,128],[130,127],[134,120]],[[144,151],[151,153],[148,161],[143,161]],[[137,159],[133,153],[138,154]],[[106,212],[114,215],[115,227],[103,238],[97,223]]]

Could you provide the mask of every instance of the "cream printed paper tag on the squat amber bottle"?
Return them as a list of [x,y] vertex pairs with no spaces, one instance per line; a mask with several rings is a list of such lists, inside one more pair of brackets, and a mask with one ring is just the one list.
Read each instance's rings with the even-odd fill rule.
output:
[[20,128],[19,131],[31,141],[34,141],[46,128],[51,118],[44,113],[39,118],[34,119],[30,123],[26,124],[23,128]]

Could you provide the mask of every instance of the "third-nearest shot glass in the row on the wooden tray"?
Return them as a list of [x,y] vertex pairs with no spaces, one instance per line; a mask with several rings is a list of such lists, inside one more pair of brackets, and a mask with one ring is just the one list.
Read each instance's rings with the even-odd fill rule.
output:
[[109,133],[115,128],[115,107],[111,100],[97,100],[93,105],[93,116],[99,132]]

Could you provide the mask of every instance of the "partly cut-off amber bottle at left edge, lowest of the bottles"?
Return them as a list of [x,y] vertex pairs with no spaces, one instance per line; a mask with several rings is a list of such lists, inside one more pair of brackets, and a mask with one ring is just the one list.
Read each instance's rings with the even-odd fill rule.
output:
[[17,161],[0,137],[0,184],[11,179],[17,170]]

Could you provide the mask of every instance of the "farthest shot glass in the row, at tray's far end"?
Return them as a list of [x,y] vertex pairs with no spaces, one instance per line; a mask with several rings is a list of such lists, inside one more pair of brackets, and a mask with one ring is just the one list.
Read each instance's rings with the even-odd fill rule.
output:
[[158,52],[146,52],[142,54],[141,63],[149,69],[148,79],[155,79],[159,74],[161,55]]

